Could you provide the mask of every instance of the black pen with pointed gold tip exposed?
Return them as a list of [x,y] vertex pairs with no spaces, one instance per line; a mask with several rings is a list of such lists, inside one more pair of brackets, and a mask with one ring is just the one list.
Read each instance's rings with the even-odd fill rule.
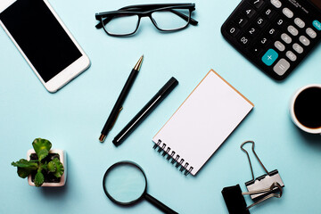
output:
[[124,103],[126,97],[128,96],[131,86],[133,86],[134,84],[138,71],[140,70],[140,67],[142,65],[143,58],[144,58],[144,55],[142,55],[141,58],[139,58],[138,62],[136,63],[136,66],[130,72],[128,80],[126,81],[125,86],[120,92],[119,98],[117,99],[114,107],[111,110],[111,114],[108,117],[103,127],[102,134],[101,136],[99,136],[99,141],[102,143],[106,139],[108,132],[111,130],[111,128],[115,124],[116,119],[118,118],[119,112],[122,110],[122,104]]

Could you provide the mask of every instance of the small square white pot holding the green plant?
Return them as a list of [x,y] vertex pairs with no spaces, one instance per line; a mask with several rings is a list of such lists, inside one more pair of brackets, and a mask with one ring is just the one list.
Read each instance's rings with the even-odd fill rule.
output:
[[[27,152],[27,160],[28,161],[30,161],[30,154],[32,154],[32,153],[36,153],[35,150],[30,149]],[[53,186],[65,185],[66,184],[66,180],[67,180],[67,153],[64,150],[57,150],[57,149],[50,150],[49,153],[57,153],[57,154],[59,154],[59,158],[60,158],[60,161],[62,162],[62,166],[63,166],[64,172],[63,172],[63,175],[61,177],[61,181],[59,183],[46,183],[45,182],[41,186],[52,186],[53,187]],[[33,183],[31,181],[31,175],[29,175],[29,177],[28,177],[28,183],[29,183],[29,185],[35,186],[35,183]]]

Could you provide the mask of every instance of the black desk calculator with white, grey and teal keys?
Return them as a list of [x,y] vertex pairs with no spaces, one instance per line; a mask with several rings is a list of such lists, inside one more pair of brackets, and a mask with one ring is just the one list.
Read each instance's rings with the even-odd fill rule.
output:
[[243,0],[221,31],[260,70],[282,80],[321,40],[321,0]]

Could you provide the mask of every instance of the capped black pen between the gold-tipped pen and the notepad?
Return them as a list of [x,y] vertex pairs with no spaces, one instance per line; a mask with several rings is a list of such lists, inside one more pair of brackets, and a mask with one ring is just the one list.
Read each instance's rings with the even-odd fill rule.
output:
[[167,95],[178,85],[176,78],[170,78],[165,86],[161,87],[161,90],[152,97],[152,100],[148,102],[144,108],[139,111],[136,116],[131,119],[128,125],[123,128],[117,136],[113,139],[112,143],[119,146],[138,125],[165,99]]

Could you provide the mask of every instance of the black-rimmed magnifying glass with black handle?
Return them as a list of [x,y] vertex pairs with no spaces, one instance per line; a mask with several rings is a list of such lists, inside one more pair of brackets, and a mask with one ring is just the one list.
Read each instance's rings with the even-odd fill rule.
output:
[[177,214],[147,193],[147,178],[135,162],[120,161],[113,164],[103,176],[103,191],[111,202],[128,206],[145,199],[165,213]]

